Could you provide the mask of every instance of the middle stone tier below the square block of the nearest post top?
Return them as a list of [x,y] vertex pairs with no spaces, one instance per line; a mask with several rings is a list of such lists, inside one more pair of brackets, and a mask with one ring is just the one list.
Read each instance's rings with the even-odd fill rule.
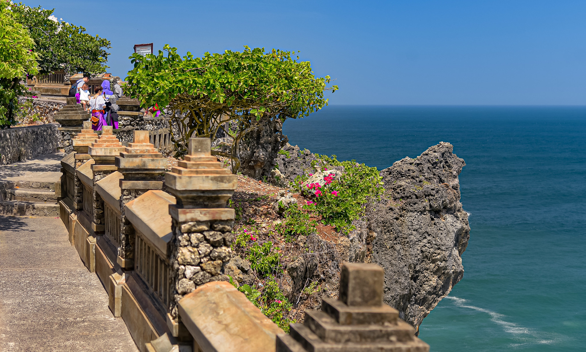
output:
[[304,325],[325,342],[388,342],[413,341],[415,329],[398,320],[397,324],[385,325],[340,325],[331,316],[319,310],[306,310]]

